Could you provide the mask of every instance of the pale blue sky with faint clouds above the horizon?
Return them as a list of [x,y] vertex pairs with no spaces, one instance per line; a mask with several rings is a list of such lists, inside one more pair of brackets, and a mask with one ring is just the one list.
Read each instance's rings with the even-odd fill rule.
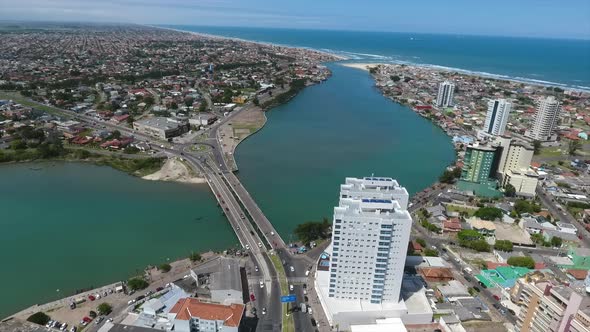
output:
[[0,19],[590,39],[590,0],[0,0]]

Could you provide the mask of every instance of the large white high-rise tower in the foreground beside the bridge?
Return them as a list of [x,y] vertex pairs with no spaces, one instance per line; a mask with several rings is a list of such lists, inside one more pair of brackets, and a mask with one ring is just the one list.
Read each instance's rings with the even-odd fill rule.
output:
[[400,300],[412,217],[408,192],[391,178],[346,178],[334,208],[329,297]]

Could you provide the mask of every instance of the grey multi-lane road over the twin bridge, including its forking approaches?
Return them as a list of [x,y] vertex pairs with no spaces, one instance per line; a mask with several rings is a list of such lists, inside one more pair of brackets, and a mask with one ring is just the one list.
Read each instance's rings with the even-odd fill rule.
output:
[[[272,224],[264,216],[264,213],[257,206],[254,199],[241,185],[239,179],[227,171],[228,168],[225,164],[223,155],[220,152],[221,145],[217,140],[217,129],[224,122],[229,121],[237,115],[239,111],[232,112],[229,116],[222,118],[210,129],[210,139],[208,140],[209,143],[207,145],[212,148],[215,163],[207,162],[208,158],[206,155],[208,152],[188,152],[187,146],[190,144],[163,142],[125,126],[107,121],[99,121],[95,118],[69,110],[60,110],[60,112],[86,123],[91,127],[118,130],[124,135],[144,140],[145,142],[150,143],[154,150],[165,152],[171,156],[184,158],[189,165],[201,173],[207,180],[207,183],[223,209],[223,212],[228,218],[238,240],[244,248],[246,248],[246,246],[249,248],[248,251],[252,263],[259,267],[262,280],[265,283],[264,289],[266,290],[266,295],[259,296],[260,300],[258,300],[257,305],[259,309],[258,316],[260,319],[257,331],[277,331],[281,329],[282,306],[280,305],[280,285],[277,279],[277,272],[268,257],[266,244],[268,243],[270,246],[277,249],[279,254],[284,257],[283,260],[286,265],[297,266],[300,271],[299,273],[301,274],[299,276],[304,276],[305,259],[292,258],[289,252],[285,249],[285,242],[280,238],[280,235],[276,230],[274,230]],[[219,165],[219,167],[217,165]],[[232,186],[230,186],[229,183],[232,183]],[[248,213],[242,209],[242,206],[246,208]],[[250,218],[252,218],[252,223],[250,222]],[[260,233],[263,234],[264,240],[260,238],[257,230],[260,230]],[[260,293],[260,291],[258,292]],[[266,315],[262,315],[262,307],[266,307]],[[299,328],[296,328],[296,330],[306,331],[306,329]]]

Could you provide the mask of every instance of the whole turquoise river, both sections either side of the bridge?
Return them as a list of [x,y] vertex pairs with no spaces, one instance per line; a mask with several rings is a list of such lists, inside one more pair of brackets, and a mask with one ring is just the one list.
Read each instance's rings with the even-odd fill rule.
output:
[[[330,67],[236,151],[239,177],[286,241],[331,216],[346,176],[391,176],[413,193],[454,159],[449,137],[381,96],[368,73]],[[2,165],[0,183],[0,317],[237,243],[206,185],[79,163]]]

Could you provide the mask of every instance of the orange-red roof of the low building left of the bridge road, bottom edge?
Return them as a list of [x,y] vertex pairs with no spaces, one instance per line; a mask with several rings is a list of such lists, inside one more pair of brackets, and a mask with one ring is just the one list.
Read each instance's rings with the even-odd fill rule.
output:
[[177,314],[176,319],[189,320],[198,317],[207,320],[222,320],[225,326],[238,326],[244,313],[243,304],[222,305],[201,302],[187,297],[176,302],[170,313]]

